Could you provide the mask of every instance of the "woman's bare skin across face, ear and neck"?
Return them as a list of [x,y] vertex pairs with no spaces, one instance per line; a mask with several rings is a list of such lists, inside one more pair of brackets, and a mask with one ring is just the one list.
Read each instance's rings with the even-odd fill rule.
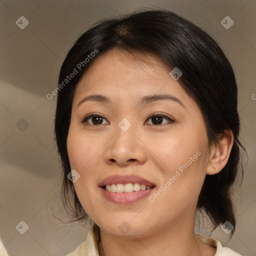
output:
[[[216,252],[194,234],[196,203],[205,175],[226,164],[233,136],[229,131],[218,144],[208,145],[197,103],[169,72],[155,56],[136,53],[135,57],[112,49],[92,63],[76,87],[67,151],[71,169],[80,174],[73,183],[79,201],[100,227],[100,256]],[[164,99],[139,103],[142,96],[161,93],[174,95],[184,106]],[[112,103],[85,101],[77,107],[93,94],[108,96]],[[104,116],[102,124],[93,124],[92,118],[81,123],[91,112]],[[156,125],[148,119],[159,112],[174,121],[162,118]],[[118,126],[123,118],[131,123],[127,131]],[[156,192],[197,151],[200,156],[153,202],[145,197],[129,205],[116,204],[98,187],[110,175],[137,174],[156,184]],[[118,228],[123,221],[131,227],[125,234]]]

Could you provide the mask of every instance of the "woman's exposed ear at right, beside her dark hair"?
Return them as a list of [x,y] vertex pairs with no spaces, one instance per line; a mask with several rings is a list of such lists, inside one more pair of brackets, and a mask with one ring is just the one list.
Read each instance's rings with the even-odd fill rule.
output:
[[218,142],[211,146],[206,174],[213,175],[224,168],[233,145],[233,140],[232,131],[227,129]]

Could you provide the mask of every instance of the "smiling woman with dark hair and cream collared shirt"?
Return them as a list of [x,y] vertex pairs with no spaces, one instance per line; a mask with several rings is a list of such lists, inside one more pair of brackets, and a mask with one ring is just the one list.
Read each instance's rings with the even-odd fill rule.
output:
[[233,233],[242,147],[235,76],[209,35],[165,10],[103,20],[58,81],[63,202],[93,221],[69,256],[239,255],[194,233],[196,211]]

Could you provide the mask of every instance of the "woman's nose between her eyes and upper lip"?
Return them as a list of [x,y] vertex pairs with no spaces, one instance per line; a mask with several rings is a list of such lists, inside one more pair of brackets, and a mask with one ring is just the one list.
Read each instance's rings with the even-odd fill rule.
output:
[[146,160],[145,146],[138,138],[139,134],[135,130],[135,125],[131,125],[126,131],[117,126],[114,132],[115,135],[106,144],[104,161],[107,164],[119,166],[144,163]]

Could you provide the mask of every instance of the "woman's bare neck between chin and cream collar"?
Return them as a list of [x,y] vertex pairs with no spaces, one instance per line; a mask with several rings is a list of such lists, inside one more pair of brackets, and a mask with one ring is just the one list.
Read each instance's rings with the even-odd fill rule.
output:
[[194,234],[194,216],[178,217],[163,228],[143,237],[115,236],[100,229],[99,256],[161,255],[161,256],[213,256],[216,249]]

